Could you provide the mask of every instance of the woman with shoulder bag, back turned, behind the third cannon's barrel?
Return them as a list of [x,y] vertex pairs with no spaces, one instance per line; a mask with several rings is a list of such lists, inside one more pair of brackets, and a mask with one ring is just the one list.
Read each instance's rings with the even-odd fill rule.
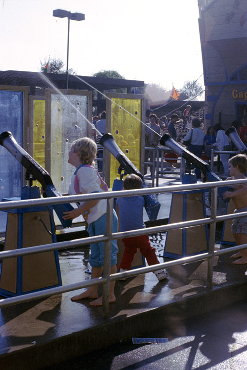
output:
[[[200,129],[201,121],[199,118],[193,118],[191,123],[192,123],[192,128],[189,130],[188,134],[184,137],[183,144],[188,145],[187,149],[189,152],[201,158],[202,152],[203,152],[203,139],[204,139],[204,133]],[[195,172],[196,172],[197,179],[200,179],[201,170],[198,167],[196,167]]]

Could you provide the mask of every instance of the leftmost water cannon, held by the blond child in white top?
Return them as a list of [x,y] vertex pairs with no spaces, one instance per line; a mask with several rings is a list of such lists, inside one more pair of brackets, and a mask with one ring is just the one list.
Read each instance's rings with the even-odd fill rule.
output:
[[[11,132],[5,131],[0,134],[0,145],[7,149],[26,168],[25,179],[29,181],[30,187],[32,187],[34,180],[38,180],[47,197],[62,197],[62,194],[53,185],[49,173],[20,147]],[[57,204],[52,207],[63,227],[71,227],[72,221],[63,219],[63,212],[74,209],[71,204]]]

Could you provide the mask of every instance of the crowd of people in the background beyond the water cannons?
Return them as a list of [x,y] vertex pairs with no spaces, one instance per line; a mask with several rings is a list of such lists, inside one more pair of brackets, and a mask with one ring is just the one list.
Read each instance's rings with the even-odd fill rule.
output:
[[[243,141],[247,146],[247,118],[242,119],[242,125],[239,125],[238,121],[233,121],[234,126]],[[180,135],[180,128],[186,128],[187,133],[185,136]],[[106,111],[99,113],[92,117],[92,140],[97,144],[97,166],[98,170],[102,172],[103,168],[103,147],[99,144],[99,140],[103,134],[106,133]],[[223,127],[216,123],[213,126],[207,128],[206,134],[203,133],[201,120],[194,117],[191,114],[191,106],[187,105],[183,111],[182,117],[178,114],[173,113],[169,118],[166,116],[158,117],[151,109],[146,110],[146,128],[145,128],[145,152],[144,152],[144,175],[147,174],[148,164],[147,162],[153,161],[153,150],[147,148],[156,148],[159,145],[160,138],[163,134],[168,133],[170,137],[183,144],[183,141],[190,141],[187,149],[195,154],[197,157],[206,160],[210,163],[212,149],[221,152],[234,151],[236,148],[230,142],[229,138],[225,134]],[[124,138],[123,138],[124,143]],[[126,143],[127,144],[127,143]],[[165,155],[165,161],[169,162],[170,165],[176,162],[177,155],[170,151]],[[228,159],[230,158],[229,153],[220,153],[218,155],[218,171],[220,171],[220,163],[223,166],[223,176],[229,176]],[[152,173],[152,164],[150,171]],[[195,173],[198,179],[201,174],[198,168],[195,169]]]

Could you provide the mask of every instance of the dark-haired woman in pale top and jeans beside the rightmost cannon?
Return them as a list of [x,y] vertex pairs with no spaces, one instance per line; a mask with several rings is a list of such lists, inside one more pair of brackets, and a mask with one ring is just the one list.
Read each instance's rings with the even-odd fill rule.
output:
[[[213,130],[216,135],[216,142],[211,144],[211,148],[217,147],[219,151],[231,151],[232,146],[225,134],[223,127],[219,123],[216,123],[213,126]],[[220,153],[219,157],[224,167],[224,176],[229,177],[228,159],[230,158],[230,154]]]

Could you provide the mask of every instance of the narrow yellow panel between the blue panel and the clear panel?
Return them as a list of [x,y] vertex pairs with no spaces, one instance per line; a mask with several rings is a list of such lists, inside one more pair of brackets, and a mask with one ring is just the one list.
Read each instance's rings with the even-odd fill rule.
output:
[[[34,100],[34,159],[44,168],[45,100]],[[38,181],[34,185],[41,186]]]

